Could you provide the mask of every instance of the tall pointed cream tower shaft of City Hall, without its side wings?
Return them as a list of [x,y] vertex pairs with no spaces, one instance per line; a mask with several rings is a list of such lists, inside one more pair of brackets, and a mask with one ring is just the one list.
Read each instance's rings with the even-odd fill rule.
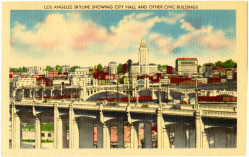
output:
[[149,51],[144,39],[142,39],[140,43],[138,59],[140,73],[147,74],[149,72]]

